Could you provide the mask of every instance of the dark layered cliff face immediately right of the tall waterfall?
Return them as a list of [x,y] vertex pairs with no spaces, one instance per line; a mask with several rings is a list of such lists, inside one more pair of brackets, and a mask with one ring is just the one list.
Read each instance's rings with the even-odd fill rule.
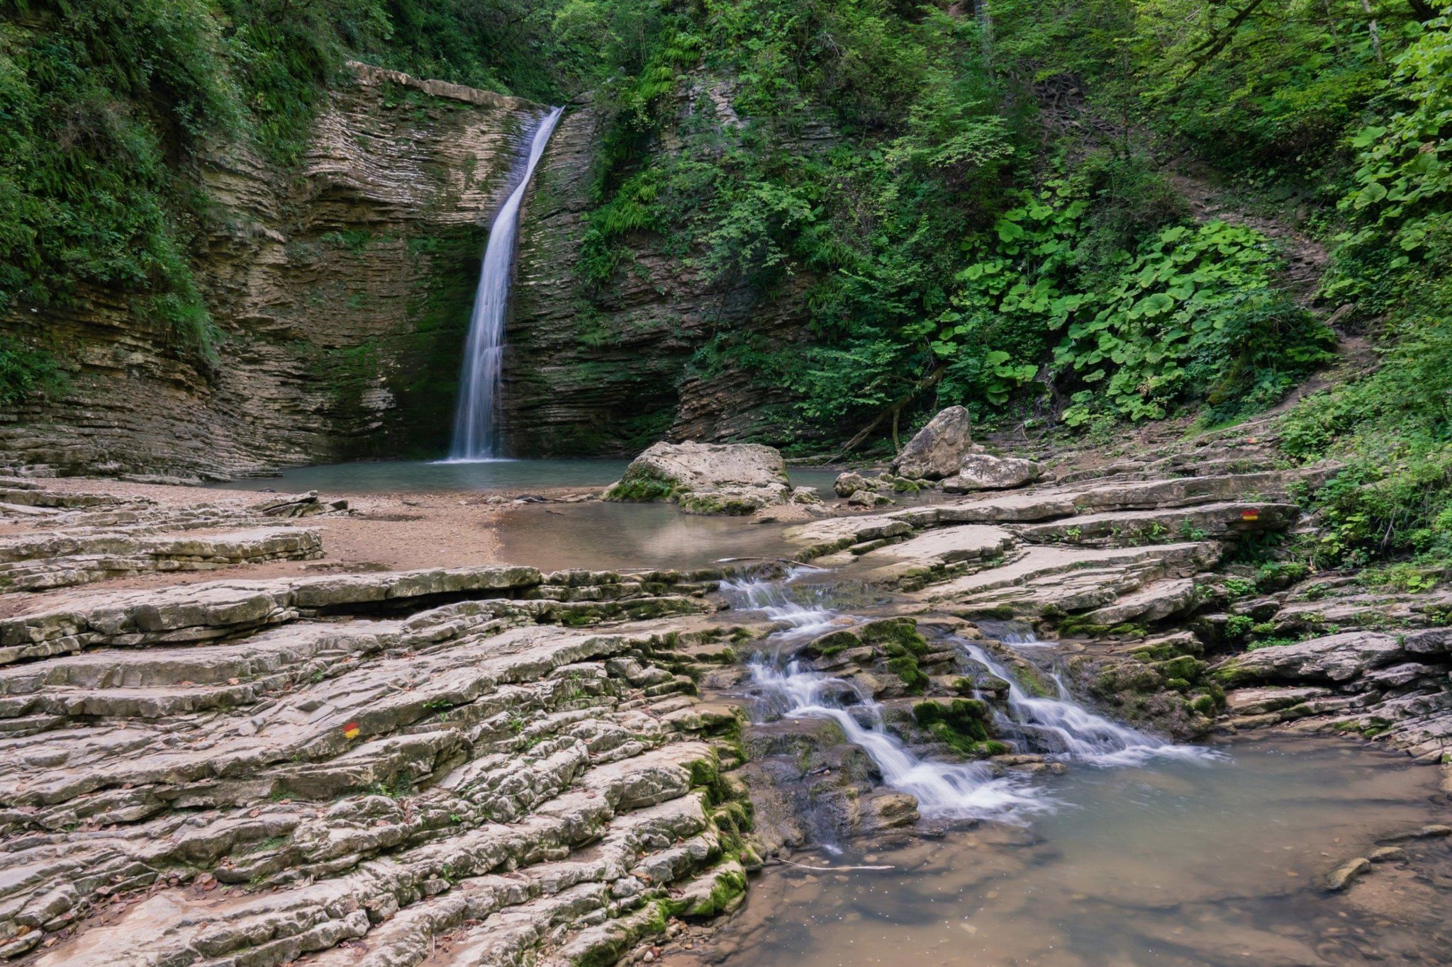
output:
[[[726,126],[729,97],[700,80],[681,97],[678,126]],[[608,286],[584,281],[584,216],[603,117],[585,106],[565,116],[536,170],[520,229],[504,364],[508,447],[537,454],[635,454],[658,439],[781,442],[787,396],[741,364],[701,365],[697,352],[749,320],[780,346],[806,338],[807,280],[768,296],[704,280],[662,239],[627,239],[629,258]],[[803,139],[825,144],[825,128]],[[662,138],[658,151],[672,151]],[[774,425],[775,423],[775,425]]]

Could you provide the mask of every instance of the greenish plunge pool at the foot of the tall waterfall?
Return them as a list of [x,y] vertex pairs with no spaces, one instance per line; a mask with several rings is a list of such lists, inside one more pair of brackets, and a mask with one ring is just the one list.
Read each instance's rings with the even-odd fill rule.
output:
[[[324,493],[431,493],[440,490],[518,490],[527,487],[605,487],[626,471],[626,460],[376,460],[351,464],[292,467],[276,477],[248,477],[215,484],[227,490]],[[838,470],[788,468],[793,486],[832,490]]]

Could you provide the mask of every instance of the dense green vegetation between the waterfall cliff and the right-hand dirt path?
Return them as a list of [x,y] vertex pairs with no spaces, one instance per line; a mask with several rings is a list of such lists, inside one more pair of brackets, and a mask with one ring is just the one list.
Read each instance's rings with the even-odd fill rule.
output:
[[[1160,159],[1330,223],[1342,141],[1424,29],[1384,16],[1374,41],[1353,0],[1292,7],[662,4],[640,70],[607,87],[588,281],[643,231],[764,299],[807,277],[812,346],[727,328],[697,360],[791,387],[807,438],[950,402],[1101,431],[1263,409],[1329,333],[1278,289],[1275,244],[1195,225]],[[680,149],[652,151],[700,65],[732,78],[733,116],[698,93]]]

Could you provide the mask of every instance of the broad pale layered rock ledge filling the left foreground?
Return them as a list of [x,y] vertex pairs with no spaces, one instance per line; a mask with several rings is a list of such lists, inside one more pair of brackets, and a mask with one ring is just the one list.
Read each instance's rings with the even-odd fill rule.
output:
[[733,909],[742,716],[696,697],[732,658],[694,618],[719,577],[219,581],[4,619],[0,957],[613,963]]

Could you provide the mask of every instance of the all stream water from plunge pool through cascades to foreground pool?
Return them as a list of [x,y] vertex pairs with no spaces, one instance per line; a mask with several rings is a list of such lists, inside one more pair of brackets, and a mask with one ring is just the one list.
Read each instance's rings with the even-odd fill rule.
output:
[[[623,470],[623,461],[376,462],[229,486],[452,502],[450,491],[595,489]],[[829,487],[832,476],[793,471],[793,481]],[[780,526],[662,505],[524,506],[502,516],[495,536],[501,560],[546,568],[697,567],[791,552]],[[1327,871],[1368,855],[1378,838],[1448,821],[1436,770],[1350,741],[1285,734],[1173,745],[1099,716],[1061,681],[1050,697],[1011,690],[996,731],[1018,751],[1061,763],[1063,774],[919,758],[883,725],[871,696],[793,664],[800,644],[857,621],[829,573],[725,592],[736,607],[780,622],[745,686],[758,721],[836,721],[884,784],[918,797],[923,819],[768,867],[735,918],[666,963],[1452,963],[1448,838],[1406,842],[1411,863],[1378,864],[1347,893],[1320,889]],[[980,632],[1057,681],[1053,642],[1005,622],[980,622]],[[1012,681],[982,642],[951,641],[966,665]]]

